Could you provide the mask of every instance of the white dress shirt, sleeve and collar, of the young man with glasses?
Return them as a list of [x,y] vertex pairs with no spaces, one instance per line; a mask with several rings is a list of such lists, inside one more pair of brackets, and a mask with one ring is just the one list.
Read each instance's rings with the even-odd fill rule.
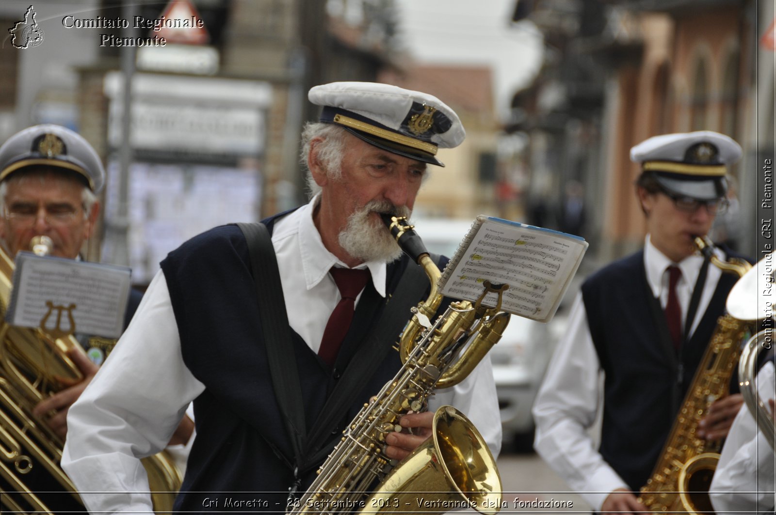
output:
[[[722,254],[720,254],[721,257]],[[650,242],[644,247],[646,278],[663,308],[668,299],[666,268],[672,263]],[[702,258],[691,256],[678,263],[682,278],[677,284],[677,298],[683,318],[687,313],[693,286],[698,278]],[[710,266],[698,313],[691,327],[695,330],[711,301],[721,271]],[[692,334],[692,333],[690,333]],[[580,493],[594,510],[612,490],[629,489],[625,481],[604,461],[588,430],[594,426],[601,406],[602,374],[590,329],[587,326],[582,295],[575,299],[569,314],[566,336],[556,347],[533,406],[536,423],[534,447],[571,489]]]

